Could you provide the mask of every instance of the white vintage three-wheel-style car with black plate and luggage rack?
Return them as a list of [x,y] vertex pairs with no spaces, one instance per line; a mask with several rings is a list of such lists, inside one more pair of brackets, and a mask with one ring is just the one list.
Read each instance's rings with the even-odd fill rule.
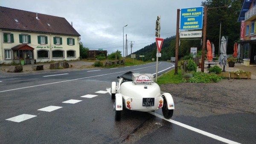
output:
[[112,82],[111,98],[115,99],[115,120],[119,121],[123,108],[149,112],[162,108],[163,116],[172,118],[174,102],[172,95],[160,92],[151,74],[126,72],[118,76],[118,83]]

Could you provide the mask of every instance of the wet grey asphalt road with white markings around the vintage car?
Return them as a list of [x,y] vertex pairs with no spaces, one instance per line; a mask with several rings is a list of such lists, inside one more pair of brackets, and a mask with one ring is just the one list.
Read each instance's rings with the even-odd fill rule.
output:
[[[162,62],[158,68],[159,72],[165,72],[174,65]],[[150,63],[1,78],[0,143],[233,143],[237,140],[232,134],[235,128],[227,122],[221,124],[229,132],[218,128],[219,123],[209,124],[204,118],[174,115],[166,121],[159,110],[151,113],[124,110],[122,120],[114,121],[113,101],[106,88],[117,81],[116,76],[128,70],[155,73],[155,69],[155,63]],[[186,110],[186,104],[176,101]],[[245,121],[251,122],[250,118]]]

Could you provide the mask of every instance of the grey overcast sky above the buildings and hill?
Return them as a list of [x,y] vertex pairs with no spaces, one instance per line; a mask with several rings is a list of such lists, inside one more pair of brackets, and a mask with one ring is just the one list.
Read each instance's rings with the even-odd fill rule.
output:
[[[205,0],[1,0],[0,6],[64,17],[90,50],[116,50],[123,54],[127,34],[128,55],[155,42],[155,21],[160,15],[160,37],[176,35],[177,9],[201,6]],[[125,38],[124,38],[125,39]]]

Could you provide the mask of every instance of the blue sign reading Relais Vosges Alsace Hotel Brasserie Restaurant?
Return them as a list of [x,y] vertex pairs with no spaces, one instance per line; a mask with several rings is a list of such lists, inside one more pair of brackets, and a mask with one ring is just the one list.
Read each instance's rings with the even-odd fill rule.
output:
[[180,9],[180,30],[202,29],[203,7]]

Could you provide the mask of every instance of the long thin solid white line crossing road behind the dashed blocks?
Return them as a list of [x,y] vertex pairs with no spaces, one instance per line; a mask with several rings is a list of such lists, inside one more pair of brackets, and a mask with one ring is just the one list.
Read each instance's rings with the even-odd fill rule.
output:
[[[152,67],[152,66],[146,66],[146,67],[142,67],[142,68],[138,68],[138,69],[145,69],[147,67]],[[133,70],[137,70],[137,69],[130,69],[130,70],[125,70],[125,71],[121,71],[121,72],[127,72],[127,71],[133,71]],[[103,75],[111,75],[111,74],[116,74],[116,73],[121,73],[121,72],[113,72],[113,73],[108,73],[108,74],[103,74]],[[99,77],[99,76],[103,76],[103,75],[94,75],[94,76],[85,77],[85,78]],[[76,78],[76,79],[67,80],[67,81],[76,81],[76,80],[81,80],[81,79],[85,79],[85,78]],[[58,84],[58,83],[63,83],[63,82],[67,82],[67,81],[58,81],[58,82],[48,83],[48,84]],[[44,85],[48,85],[48,84],[39,84],[39,85],[35,85],[35,86],[44,86]],[[35,87],[35,86],[26,86],[26,87],[21,87],[21,88],[17,88],[17,89],[26,89],[26,88]],[[17,90],[17,89],[3,90],[0,92],[8,92],[8,91]]]

